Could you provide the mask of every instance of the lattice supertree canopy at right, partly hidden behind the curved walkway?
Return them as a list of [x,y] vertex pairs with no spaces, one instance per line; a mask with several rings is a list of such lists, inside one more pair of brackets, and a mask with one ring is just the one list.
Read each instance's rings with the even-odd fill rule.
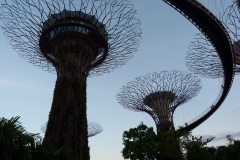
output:
[[[239,41],[233,44],[235,58],[235,74],[240,73],[240,46]],[[201,33],[197,34],[189,46],[185,58],[189,71],[204,78],[222,78],[223,68],[217,50],[209,40]]]

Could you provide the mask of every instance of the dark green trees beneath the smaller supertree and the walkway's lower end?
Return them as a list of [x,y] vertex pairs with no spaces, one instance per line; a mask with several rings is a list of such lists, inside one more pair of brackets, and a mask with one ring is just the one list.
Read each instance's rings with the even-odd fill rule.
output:
[[140,123],[123,133],[121,153],[131,160],[215,160],[216,148],[204,146],[203,141],[203,137],[192,136],[186,131],[156,134],[152,127]]

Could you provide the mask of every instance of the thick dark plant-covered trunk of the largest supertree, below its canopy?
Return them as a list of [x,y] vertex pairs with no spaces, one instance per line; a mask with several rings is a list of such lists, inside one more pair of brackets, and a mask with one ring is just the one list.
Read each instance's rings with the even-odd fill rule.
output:
[[89,160],[86,117],[86,76],[66,73],[57,77],[44,144],[68,144],[75,160]]

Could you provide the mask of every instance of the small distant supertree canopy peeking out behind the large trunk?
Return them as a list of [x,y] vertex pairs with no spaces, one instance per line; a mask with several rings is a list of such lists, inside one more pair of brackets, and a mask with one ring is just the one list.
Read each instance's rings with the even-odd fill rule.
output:
[[[41,126],[41,131],[46,133],[47,122]],[[103,128],[100,124],[88,121],[88,138],[93,137],[103,131]]]

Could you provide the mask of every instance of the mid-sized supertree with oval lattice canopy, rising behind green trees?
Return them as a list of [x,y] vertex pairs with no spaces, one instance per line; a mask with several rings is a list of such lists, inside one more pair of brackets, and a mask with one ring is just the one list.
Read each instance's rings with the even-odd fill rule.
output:
[[201,80],[183,71],[162,71],[135,78],[122,87],[118,102],[129,110],[148,113],[157,131],[175,129],[173,114],[177,107],[195,97]]

